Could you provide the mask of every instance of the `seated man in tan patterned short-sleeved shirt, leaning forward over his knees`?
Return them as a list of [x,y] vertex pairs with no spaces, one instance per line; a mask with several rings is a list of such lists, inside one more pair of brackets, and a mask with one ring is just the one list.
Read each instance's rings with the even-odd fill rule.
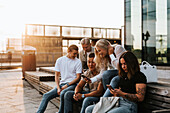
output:
[[[100,100],[100,96],[103,95],[103,84],[101,81],[95,83],[86,83],[86,79],[92,78],[99,74],[96,69],[96,63],[94,62],[94,53],[90,53],[87,59],[88,70],[82,76],[82,80],[79,82],[75,91],[67,91],[64,97],[64,113],[73,113],[73,102],[83,102],[80,113],[84,113],[87,106],[97,103]],[[74,96],[73,96],[74,95]]]

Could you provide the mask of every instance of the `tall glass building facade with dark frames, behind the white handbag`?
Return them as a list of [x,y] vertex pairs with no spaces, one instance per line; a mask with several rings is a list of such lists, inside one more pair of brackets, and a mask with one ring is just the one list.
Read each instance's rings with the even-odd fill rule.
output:
[[139,61],[170,65],[170,0],[124,0],[125,48]]

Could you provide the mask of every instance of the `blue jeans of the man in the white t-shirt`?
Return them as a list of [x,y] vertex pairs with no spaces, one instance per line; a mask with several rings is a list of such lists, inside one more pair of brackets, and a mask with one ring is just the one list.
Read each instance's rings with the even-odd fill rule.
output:
[[[61,84],[60,85],[60,88],[62,86],[64,86],[66,83],[64,84]],[[53,98],[56,98],[56,97],[59,97],[60,96],[60,109],[59,109],[59,113],[63,113],[63,105],[64,105],[64,95],[67,91],[69,90],[74,90],[76,87],[76,85],[71,85],[69,87],[67,87],[66,89],[62,90],[60,95],[58,95],[57,93],[57,87],[55,87],[54,89],[50,90],[49,92],[43,94],[43,98],[41,100],[41,103],[40,103],[40,106],[37,110],[37,113],[44,113],[46,107],[47,107],[47,104],[48,102],[53,99]]]

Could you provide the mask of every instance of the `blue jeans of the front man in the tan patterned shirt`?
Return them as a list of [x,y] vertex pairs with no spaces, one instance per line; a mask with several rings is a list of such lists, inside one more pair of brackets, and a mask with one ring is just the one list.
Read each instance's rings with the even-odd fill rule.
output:
[[[82,92],[82,94],[86,94],[89,92]],[[74,91],[68,91],[64,96],[64,113],[73,113],[73,95]],[[100,97],[86,97],[82,102],[81,112],[85,113],[86,107],[92,105],[93,103],[97,103],[100,100]]]

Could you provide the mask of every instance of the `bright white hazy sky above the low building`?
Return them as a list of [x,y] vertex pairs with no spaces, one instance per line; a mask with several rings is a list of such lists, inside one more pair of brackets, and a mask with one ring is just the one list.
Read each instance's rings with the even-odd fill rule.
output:
[[0,41],[21,38],[25,24],[120,28],[124,0],[0,0]]

